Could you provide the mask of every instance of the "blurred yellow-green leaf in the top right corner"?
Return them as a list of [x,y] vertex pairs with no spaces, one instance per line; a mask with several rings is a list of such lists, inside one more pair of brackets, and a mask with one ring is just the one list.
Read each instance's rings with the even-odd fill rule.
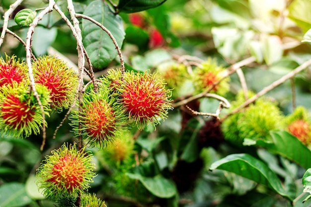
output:
[[288,17],[300,26],[304,33],[311,28],[311,0],[294,0],[288,10]]

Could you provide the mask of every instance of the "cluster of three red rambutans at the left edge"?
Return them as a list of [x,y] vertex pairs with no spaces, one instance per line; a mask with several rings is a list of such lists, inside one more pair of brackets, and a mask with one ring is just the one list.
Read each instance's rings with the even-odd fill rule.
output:
[[40,102],[30,85],[26,63],[15,56],[0,58],[0,128],[12,137],[39,134],[46,125],[42,113],[68,108],[77,91],[77,75],[56,57],[34,60],[32,69]]

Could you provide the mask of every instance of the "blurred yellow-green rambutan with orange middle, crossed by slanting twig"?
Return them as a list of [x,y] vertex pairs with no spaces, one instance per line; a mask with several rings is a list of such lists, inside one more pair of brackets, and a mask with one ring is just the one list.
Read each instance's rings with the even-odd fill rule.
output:
[[[225,68],[219,66],[213,59],[208,59],[193,70],[193,84],[197,93],[203,92],[210,88],[215,82],[222,79],[226,74]],[[217,84],[211,93],[224,95],[229,91],[229,77],[226,77]]]

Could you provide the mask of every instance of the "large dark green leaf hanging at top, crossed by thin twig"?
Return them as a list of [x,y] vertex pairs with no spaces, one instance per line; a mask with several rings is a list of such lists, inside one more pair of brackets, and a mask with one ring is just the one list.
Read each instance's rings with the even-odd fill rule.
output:
[[[83,14],[104,25],[112,33],[121,48],[125,37],[122,18],[115,15],[107,3],[101,0],[92,1]],[[118,55],[109,35],[86,19],[82,19],[82,39],[94,68],[106,67]]]

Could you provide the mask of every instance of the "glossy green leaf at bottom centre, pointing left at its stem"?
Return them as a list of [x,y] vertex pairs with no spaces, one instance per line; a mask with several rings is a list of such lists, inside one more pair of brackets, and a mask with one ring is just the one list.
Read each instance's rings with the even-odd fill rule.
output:
[[150,193],[159,198],[171,198],[176,195],[177,190],[173,181],[161,175],[155,177],[144,177],[139,174],[126,173],[131,179],[137,179],[147,188]]

